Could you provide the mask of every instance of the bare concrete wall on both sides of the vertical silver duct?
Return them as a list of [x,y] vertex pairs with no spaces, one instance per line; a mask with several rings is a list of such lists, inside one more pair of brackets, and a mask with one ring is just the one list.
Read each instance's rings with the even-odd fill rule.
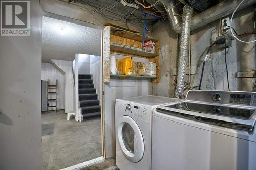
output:
[[[223,16],[225,17],[225,16]],[[229,15],[231,18],[231,15]],[[161,47],[160,77],[158,84],[153,84],[153,95],[174,96],[174,86],[172,85],[176,76],[175,68],[178,67],[177,35],[170,31],[168,23],[154,29],[153,37],[158,38]],[[252,32],[254,25],[254,7],[248,7],[238,11],[233,19],[233,27],[238,34]],[[197,68],[197,74],[191,76],[191,86],[198,86],[201,76],[203,59],[210,42],[216,40],[221,35],[219,20],[209,25],[191,32],[191,66]],[[211,35],[212,34],[212,35]],[[252,41],[253,35],[241,38],[244,41]],[[253,78],[237,78],[238,71],[252,71],[253,68],[253,43],[242,43],[237,40],[232,41],[232,46],[227,48],[227,65],[229,73],[230,90],[252,91]],[[213,49],[212,60],[206,61],[202,83],[202,89],[207,90],[228,90],[226,67],[224,60],[224,50]],[[163,62],[164,61],[164,62]],[[187,71],[188,74],[188,71]],[[188,75],[186,77],[188,81]]]

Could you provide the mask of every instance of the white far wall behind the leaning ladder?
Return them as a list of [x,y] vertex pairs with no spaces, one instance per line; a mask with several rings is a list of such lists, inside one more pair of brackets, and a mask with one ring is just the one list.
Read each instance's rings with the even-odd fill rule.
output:
[[[50,85],[55,85],[57,79],[57,109],[65,109],[64,74],[51,63],[42,63],[42,111],[47,111],[47,79],[49,79]],[[51,91],[55,91],[55,89]],[[49,99],[55,99],[55,95],[49,95]],[[55,101],[49,102],[49,105],[55,105]],[[55,110],[55,108],[49,108],[49,110]]]

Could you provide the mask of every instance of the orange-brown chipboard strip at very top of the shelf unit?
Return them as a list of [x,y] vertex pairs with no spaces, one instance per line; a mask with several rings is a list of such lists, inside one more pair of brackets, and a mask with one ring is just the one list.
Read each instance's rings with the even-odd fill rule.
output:
[[[112,35],[116,35],[119,37],[124,37],[124,38],[129,38],[129,39],[133,39],[135,41],[140,41],[143,42],[143,35],[139,34],[139,33],[133,33],[131,31],[127,31],[121,28],[116,28],[111,26],[111,34]],[[145,41],[149,41],[152,40],[152,42],[157,42],[158,40],[155,38],[152,38],[150,36],[146,36],[145,37]]]

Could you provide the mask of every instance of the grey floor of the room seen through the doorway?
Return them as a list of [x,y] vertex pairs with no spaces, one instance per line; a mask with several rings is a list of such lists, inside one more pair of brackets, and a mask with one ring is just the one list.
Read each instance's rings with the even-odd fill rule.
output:
[[100,118],[67,121],[63,110],[42,113],[44,170],[61,169],[102,156]]

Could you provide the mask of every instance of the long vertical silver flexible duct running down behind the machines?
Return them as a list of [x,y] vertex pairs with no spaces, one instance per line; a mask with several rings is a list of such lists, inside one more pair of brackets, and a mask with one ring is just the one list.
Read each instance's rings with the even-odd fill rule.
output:
[[179,66],[178,66],[175,98],[182,98],[183,89],[185,87],[184,83],[186,81],[186,69],[187,69],[187,61],[188,61],[189,37],[190,37],[192,13],[193,13],[193,8],[190,7],[189,5],[185,5],[183,8],[182,23],[181,23],[180,55],[179,55]]

